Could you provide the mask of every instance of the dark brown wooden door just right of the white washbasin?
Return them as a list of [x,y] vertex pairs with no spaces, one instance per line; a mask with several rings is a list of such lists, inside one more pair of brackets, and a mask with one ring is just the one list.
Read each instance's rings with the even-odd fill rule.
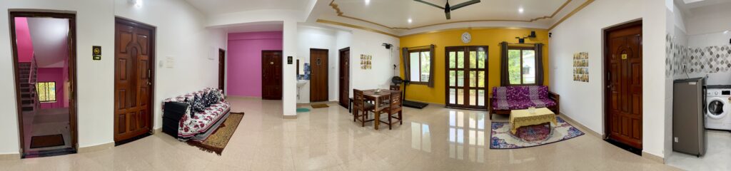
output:
[[327,101],[327,52],[310,49],[310,102]]

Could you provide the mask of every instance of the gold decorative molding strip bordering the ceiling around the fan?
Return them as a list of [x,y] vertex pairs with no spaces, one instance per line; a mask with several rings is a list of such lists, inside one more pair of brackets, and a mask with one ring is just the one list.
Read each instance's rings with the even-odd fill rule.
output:
[[[526,22],[526,23],[531,23],[531,22],[534,22],[536,20],[550,19],[550,18],[556,17],[556,14],[558,14],[558,12],[561,12],[561,10],[564,9],[571,1],[572,0],[567,0],[566,2],[564,2],[564,4],[561,4],[561,7],[558,7],[558,9],[556,9],[556,11],[554,11],[550,16],[549,15],[545,15],[545,16],[542,16],[542,17],[539,17],[539,18],[531,18],[530,20],[461,20],[461,21],[452,21],[452,22],[445,22],[445,23],[433,23],[433,24],[428,24],[428,25],[424,25],[424,26],[416,26],[416,27],[411,27],[411,28],[409,28],[409,27],[391,27],[391,26],[385,26],[383,24],[376,23],[376,22],[373,22],[371,20],[365,20],[365,19],[355,18],[355,17],[349,16],[349,15],[345,15],[345,12],[343,12],[340,9],[340,7],[338,7],[338,4],[335,3],[335,0],[330,1],[330,7],[332,7],[333,10],[335,10],[336,15],[338,15],[338,17],[349,18],[349,19],[352,19],[352,20],[360,20],[360,21],[363,21],[363,22],[366,22],[366,23],[371,23],[371,24],[374,24],[376,26],[382,26],[382,27],[389,28],[389,29],[410,30],[410,29],[415,29],[415,28],[424,28],[424,27],[428,27],[428,26],[439,26],[439,25],[450,24],[450,23],[471,23],[471,22],[485,22],[485,21],[508,21],[508,22]],[[593,1],[593,0],[590,0],[590,1]],[[574,9],[574,11],[576,11],[576,9]]]

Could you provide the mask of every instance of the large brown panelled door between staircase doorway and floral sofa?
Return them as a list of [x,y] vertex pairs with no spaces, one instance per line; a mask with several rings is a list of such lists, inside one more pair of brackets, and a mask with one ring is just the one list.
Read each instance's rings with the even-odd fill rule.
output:
[[114,141],[151,132],[154,28],[121,18],[115,23]]

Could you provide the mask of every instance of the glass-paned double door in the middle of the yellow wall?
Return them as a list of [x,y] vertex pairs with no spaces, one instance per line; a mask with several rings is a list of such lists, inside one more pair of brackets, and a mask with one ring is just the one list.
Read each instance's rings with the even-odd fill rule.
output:
[[488,110],[488,46],[445,47],[447,107]]

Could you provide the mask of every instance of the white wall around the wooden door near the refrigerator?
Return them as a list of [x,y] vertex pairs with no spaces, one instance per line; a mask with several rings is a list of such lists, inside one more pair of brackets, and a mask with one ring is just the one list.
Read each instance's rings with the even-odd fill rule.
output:
[[[550,88],[561,94],[561,113],[604,132],[603,29],[643,19],[643,151],[664,156],[664,1],[597,0],[553,28]],[[572,58],[589,53],[588,83],[572,80]]]

